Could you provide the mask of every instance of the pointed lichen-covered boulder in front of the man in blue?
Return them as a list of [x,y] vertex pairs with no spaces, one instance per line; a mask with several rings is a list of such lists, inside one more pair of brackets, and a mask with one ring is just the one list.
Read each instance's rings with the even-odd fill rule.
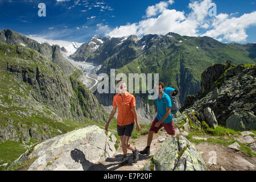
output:
[[166,139],[144,170],[205,171],[206,165],[197,148],[179,135]]

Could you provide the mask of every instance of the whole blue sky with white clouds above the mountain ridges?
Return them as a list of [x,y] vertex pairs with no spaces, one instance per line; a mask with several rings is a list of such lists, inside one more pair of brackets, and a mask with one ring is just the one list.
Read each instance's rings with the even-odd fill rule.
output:
[[[46,4],[46,17],[38,4]],[[216,15],[209,16],[216,5]],[[36,40],[88,42],[94,35],[175,32],[210,36],[223,43],[256,43],[256,0],[0,0],[0,29]],[[213,11],[212,11],[213,12]]]

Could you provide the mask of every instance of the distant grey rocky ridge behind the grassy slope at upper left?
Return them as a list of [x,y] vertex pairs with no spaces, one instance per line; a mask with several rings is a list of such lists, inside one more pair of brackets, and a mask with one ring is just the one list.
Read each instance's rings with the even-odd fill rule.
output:
[[40,44],[35,40],[10,29],[0,31],[0,41],[9,45],[21,44],[38,51],[47,59],[52,60],[53,63],[59,65],[62,71],[68,75],[75,70],[75,67],[61,55],[60,47],[58,45],[50,46],[48,43]]

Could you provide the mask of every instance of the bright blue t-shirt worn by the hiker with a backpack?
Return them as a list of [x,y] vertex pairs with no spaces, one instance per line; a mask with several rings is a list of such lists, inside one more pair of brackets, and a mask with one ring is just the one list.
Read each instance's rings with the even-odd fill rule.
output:
[[[171,98],[166,93],[163,93],[163,96],[160,100],[159,97],[156,99],[156,106],[158,107],[158,115],[156,115],[156,118],[160,121],[166,114],[166,107],[172,107]],[[172,122],[171,113],[166,119],[164,119],[163,123],[170,122]]]

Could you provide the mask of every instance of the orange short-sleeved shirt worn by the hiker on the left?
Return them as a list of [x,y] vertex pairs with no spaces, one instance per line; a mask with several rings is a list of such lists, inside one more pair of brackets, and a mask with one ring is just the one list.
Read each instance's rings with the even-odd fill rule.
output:
[[113,106],[117,106],[118,109],[117,125],[130,125],[135,121],[131,107],[136,106],[136,101],[132,94],[126,92],[123,98],[121,94],[116,94],[113,98]]

